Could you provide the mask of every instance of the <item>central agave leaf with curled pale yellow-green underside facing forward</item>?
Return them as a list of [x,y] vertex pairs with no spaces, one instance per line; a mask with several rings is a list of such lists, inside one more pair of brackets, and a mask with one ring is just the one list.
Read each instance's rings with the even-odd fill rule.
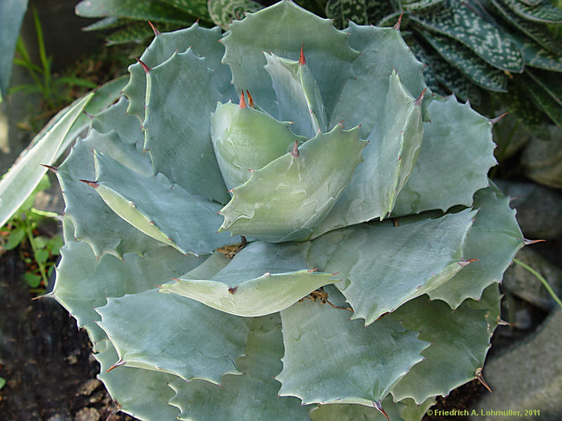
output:
[[210,279],[184,275],[159,291],[183,295],[237,316],[280,312],[333,282],[332,274],[308,269],[309,248],[310,243],[277,245],[256,241]]

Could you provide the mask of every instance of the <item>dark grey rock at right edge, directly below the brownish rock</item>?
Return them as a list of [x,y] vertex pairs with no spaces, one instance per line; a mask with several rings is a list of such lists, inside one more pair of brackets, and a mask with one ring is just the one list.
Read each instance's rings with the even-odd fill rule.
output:
[[511,207],[517,209],[517,222],[528,239],[554,239],[562,235],[562,193],[532,182],[496,184],[511,196]]

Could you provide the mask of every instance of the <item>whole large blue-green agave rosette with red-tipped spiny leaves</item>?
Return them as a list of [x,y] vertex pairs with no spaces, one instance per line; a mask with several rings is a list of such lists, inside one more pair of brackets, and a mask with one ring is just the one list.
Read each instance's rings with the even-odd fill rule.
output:
[[121,410],[419,420],[481,375],[525,240],[492,123],[433,99],[396,29],[285,0],[158,34],[129,72],[52,168],[51,295]]

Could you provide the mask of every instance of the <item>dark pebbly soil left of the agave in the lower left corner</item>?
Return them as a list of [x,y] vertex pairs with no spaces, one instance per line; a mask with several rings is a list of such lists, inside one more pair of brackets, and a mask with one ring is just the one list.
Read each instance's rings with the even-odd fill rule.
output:
[[99,365],[76,321],[54,300],[33,300],[17,253],[0,257],[0,419],[133,420],[96,379]]

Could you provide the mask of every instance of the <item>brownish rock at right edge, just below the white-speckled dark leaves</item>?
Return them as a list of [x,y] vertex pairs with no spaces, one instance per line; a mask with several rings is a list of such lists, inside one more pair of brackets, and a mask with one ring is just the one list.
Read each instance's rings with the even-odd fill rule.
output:
[[551,126],[551,138],[532,138],[523,151],[521,161],[529,178],[541,184],[562,188],[561,128]]

